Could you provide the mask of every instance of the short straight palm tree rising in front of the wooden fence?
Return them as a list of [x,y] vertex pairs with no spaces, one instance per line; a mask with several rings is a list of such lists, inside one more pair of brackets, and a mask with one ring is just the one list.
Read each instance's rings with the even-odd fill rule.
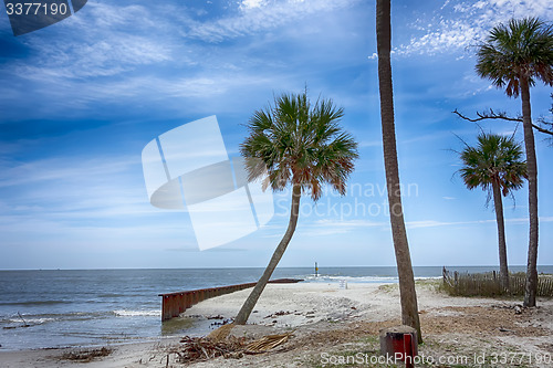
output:
[[478,146],[469,145],[460,153],[465,167],[460,175],[469,189],[481,187],[493,197],[498,222],[499,273],[501,286],[509,290],[509,269],[507,262],[505,224],[503,221],[502,198],[520,189],[528,178],[526,162],[522,160],[522,146],[514,137],[481,133]]

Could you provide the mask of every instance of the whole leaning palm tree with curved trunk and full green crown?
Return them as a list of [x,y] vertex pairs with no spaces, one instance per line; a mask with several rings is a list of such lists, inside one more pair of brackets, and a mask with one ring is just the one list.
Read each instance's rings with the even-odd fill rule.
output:
[[292,206],[286,232],[234,324],[246,324],[284,254],[295,231],[302,193],[309,193],[316,201],[323,185],[328,183],[345,194],[346,180],[357,158],[357,143],[340,127],[343,116],[343,108],[336,108],[331,99],[311,105],[305,91],[275,97],[274,106],[257,111],[250,118],[250,135],[240,146],[247,161],[248,180],[263,178],[264,187],[274,191],[290,185]]

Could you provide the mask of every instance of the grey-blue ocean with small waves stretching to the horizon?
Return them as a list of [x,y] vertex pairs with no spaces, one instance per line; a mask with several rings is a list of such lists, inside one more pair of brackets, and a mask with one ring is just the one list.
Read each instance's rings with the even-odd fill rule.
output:
[[[486,272],[497,267],[448,267]],[[439,266],[415,266],[416,277],[440,277]],[[523,272],[513,266],[511,272]],[[540,272],[553,273],[553,266]],[[209,320],[161,323],[160,293],[255,282],[263,269],[0,271],[0,350],[98,346],[160,336],[200,336]],[[280,267],[272,278],[396,283],[395,267]],[[24,327],[24,325],[28,325]]]

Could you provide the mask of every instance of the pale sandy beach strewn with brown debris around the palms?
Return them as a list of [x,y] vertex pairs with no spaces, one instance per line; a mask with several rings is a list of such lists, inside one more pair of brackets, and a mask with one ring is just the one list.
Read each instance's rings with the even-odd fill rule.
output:
[[[436,367],[458,362],[469,367],[551,367],[547,357],[553,355],[553,301],[540,299],[538,308],[519,309],[515,306],[521,302],[515,299],[450,297],[437,292],[436,285],[435,280],[417,282],[425,338],[419,356],[434,359]],[[233,317],[248,293],[244,290],[201,302],[182,317]],[[378,356],[378,332],[397,324],[397,284],[349,283],[347,288],[337,283],[272,284],[262,294],[249,324],[234,327],[232,334],[260,338],[293,332],[280,349],[285,351],[240,359],[219,357],[187,366],[321,367],[356,357],[357,366],[367,367],[372,357]],[[175,361],[175,355],[167,360],[167,351],[178,346],[179,338],[113,345],[107,356],[86,364],[67,359],[67,354],[93,348],[4,351],[0,353],[0,366],[179,367],[182,365]],[[502,358],[509,361],[503,364]],[[484,365],[479,365],[481,359]]]

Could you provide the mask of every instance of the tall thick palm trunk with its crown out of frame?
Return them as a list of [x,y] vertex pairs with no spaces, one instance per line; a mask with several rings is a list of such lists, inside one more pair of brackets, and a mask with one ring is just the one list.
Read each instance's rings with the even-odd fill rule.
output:
[[384,166],[388,190],[389,219],[396,253],[401,322],[417,330],[418,343],[422,343],[418,316],[417,293],[413,274],[409,243],[405,230],[397,164],[396,128],[394,124],[394,91],[392,85],[392,25],[390,0],[376,1],[376,41],[378,52],[378,86],[380,92],[380,118],[384,145]]

